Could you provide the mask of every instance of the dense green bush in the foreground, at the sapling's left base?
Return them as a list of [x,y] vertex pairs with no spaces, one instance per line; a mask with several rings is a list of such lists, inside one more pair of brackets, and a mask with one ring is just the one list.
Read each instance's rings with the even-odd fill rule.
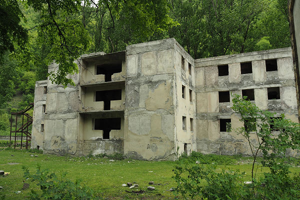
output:
[[244,173],[238,171],[222,168],[216,172],[215,166],[204,167],[200,164],[176,165],[173,171],[177,182],[176,192],[180,192],[185,199],[197,195],[208,200],[242,199],[251,193],[242,181]]

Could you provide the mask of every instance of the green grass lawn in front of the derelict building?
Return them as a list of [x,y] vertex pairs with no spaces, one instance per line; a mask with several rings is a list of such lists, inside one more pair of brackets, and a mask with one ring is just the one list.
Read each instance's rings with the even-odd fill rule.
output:
[[[250,180],[251,160],[248,160],[248,157],[234,157],[234,159],[236,163],[227,165],[227,167],[245,171],[247,175],[245,181]],[[109,161],[108,158],[57,156],[31,153],[26,150],[5,150],[4,148],[0,149],[0,170],[10,172],[10,174],[0,176],[0,186],[3,187],[0,189],[0,196],[5,194],[5,199],[28,199],[30,189],[38,190],[39,188],[34,182],[23,178],[21,166],[27,166],[29,171],[34,173],[37,163],[41,168],[48,168],[50,172],[55,172],[57,175],[66,171],[67,178],[82,179],[83,184],[88,185],[101,196],[103,195],[104,199],[181,199],[180,196],[176,197],[168,191],[170,187],[176,187],[172,178],[172,169],[176,161],[132,159]],[[218,165],[219,168],[222,166]],[[266,168],[258,169],[258,176],[266,170]],[[300,167],[290,167],[290,171],[299,173]],[[29,189],[21,189],[23,181],[30,184]],[[147,191],[149,181],[154,181],[154,185],[152,185],[155,187],[154,191]],[[125,190],[132,190],[121,186],[122,183],[127,182],[136,182],[139,186],[133,189],[142,189],[146,192],[142,194],[126,192]],[[21,192],[15,193],[15,191]]]

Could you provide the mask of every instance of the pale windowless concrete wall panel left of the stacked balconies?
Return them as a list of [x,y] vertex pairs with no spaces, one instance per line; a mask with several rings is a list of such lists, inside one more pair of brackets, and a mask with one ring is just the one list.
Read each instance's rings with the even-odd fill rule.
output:
[[[58,69],[52,63],[48,72]],[[68,75],[76,85],[79,84],[79,74]],[[47,79],[47,93],[43,117],[44,137],[42,148],[45,153],[75,154],[78,135],[79,86],[51,83]],[[34,112],[39,112],[34,106]],[[36,121],[33,119],[33,121]]]

